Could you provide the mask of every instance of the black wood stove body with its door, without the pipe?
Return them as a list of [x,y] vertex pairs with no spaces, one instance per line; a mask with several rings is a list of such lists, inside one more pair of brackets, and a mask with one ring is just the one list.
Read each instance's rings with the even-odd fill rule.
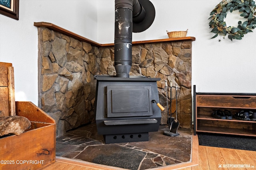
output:
[[105,143],[148,141],[158,131],[161,110],[156,81],[160,78],[96,76],[96,125]]

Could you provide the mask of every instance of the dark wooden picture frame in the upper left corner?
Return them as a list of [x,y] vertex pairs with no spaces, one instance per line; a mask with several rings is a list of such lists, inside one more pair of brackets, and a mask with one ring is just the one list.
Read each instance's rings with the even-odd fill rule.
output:
[[9,0],[9,5],[0,4],[0,14],[19,20],[19,0]]

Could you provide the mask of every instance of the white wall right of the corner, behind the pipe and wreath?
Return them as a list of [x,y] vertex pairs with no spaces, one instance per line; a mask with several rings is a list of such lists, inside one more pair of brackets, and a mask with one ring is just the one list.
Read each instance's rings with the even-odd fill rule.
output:
[[[99,0],[102,8],[112,8],[114,0]],[[133,41],[165,39],[168,31],[185,31],[196,37],[192,43],[192,85],[197,92],[256,93],[256,29],[242,40],[210,39],[210,12],[221,0],[151,0],[156,17],[146,31],[133,33]],[[108,15],[111,15],[108,17]],[[227,13],[227,19],[233,13]],[[237,23],[244,18],[238,18]],[[231,23],[231,22],[227,22]],[[230,25],[237,26],[237,25]],[[104,28],[104,29],[103,29]],[[114,42],[114,8],[98,12],[98,41]]]

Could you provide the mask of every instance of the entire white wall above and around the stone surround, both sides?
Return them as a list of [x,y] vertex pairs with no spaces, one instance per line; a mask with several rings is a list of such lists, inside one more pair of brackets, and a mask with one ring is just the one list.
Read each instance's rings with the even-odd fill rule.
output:
[[[221,0],[151,0],[156,18],[133,41],[168,38],[188,29],[197,92],[256,93],[256,29],[242,40],[210,39],[209,14]],[[229,15],[229,14],[228,14]],[[231,15],[231,14],[230,14]],[[114,42],[114,0],[20,0],[20,20],[0,15],[0,61],[13,63],[17,101],[38,104],[38,35],[50,22],[98,43]],[[237,25],[231,25],[237,26]]]

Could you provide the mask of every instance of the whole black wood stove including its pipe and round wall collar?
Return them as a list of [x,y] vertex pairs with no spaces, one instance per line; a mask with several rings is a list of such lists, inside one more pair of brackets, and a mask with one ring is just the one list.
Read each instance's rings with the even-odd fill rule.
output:
[[98,75],[95,114],[98,133],[105,143],[148,141],[158,131],[161,110],[156,81],[160,78],[129,76],[132,66],[132,31],[142,32],[154,21],[149,0],[115,0],[116,76]]

